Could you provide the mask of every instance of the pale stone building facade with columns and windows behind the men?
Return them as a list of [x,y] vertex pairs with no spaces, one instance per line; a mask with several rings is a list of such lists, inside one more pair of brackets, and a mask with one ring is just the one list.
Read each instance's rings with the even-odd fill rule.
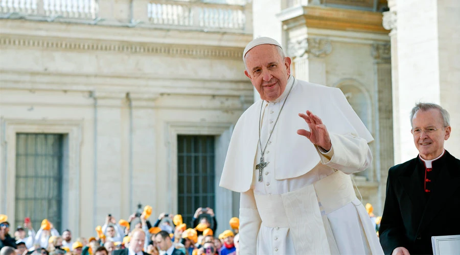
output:
[[139,202],[152,217],[204,205],[222,232],[239,205],[218,187],[226,149],[258,99],[241,54],[270,36],[297,79],[340,88],[374,136],[373,165],[354,180],[380,215],[388,168],[417,155],[415,102],[450,111],[460,156],[460,2],[421,2],[2,2],[0,213],[52,213],[60,231],[91,236]]

